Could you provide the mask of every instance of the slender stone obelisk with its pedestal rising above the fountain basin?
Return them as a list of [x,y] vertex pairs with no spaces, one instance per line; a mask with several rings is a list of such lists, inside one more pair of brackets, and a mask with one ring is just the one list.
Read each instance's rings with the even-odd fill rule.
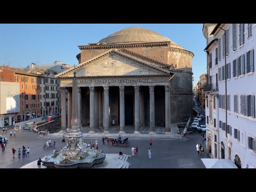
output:
[[76,72],[74,72],[72,82],[72,116],[71,116],[71,130],[67,134],[69,138],[76,138],[78,142],[82,141],[82,132],[80,131],[80,118],[78,116],[78,86],[76,79]]

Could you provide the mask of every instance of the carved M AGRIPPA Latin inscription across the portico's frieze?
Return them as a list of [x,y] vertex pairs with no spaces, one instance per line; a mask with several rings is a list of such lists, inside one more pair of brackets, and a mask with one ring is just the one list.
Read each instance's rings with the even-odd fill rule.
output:
[[148,79],[90,79],[78,80],[78,83],[147,83]]

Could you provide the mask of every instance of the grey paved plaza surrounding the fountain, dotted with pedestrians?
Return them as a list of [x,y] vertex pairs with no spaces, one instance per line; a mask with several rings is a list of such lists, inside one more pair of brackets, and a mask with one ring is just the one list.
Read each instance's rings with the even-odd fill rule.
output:
[[[9,135],[10,134],[6,135],[9,139],[6,151],[0,154],[0,168],[20,168],[25,164],[43,158],[46,154],[52,153],[53,149],[51,148],[42,149],[43,143],[46,143],[49,137],[39,138],[38,134],[30,131],[17,131],[16,137],[12,136],[12,138],[10,138]],[[144,134],[140,134],[141,137],[143,137],[143,135]],[[137,137],[139,137],[139,135]],[[50,138],[53,142],[54,137]],[[65,144],[61,142],[62,138],[56,137],[55,139],[56,148],[65,146]],[[105,145],[103,145],[101,136],[100,138],[84,138],[84,142],[95,142],[96,139],[99,143],[99,149],[107,154],[118,154],[119,150],[122,149],[124,154],[131,155],[132,146],[138,146],[138,156],[129,157],[127,160],[131,164],[129,168],[205,168],[200,158],[209,158],[208,155],[199,155],[196,151],[196,144],[198,142],[201,142],[204,148],[206,148],[200,134],[192,134],[189,141],[186,139],[152,138],[152,159],[148,159],[148,138],[129,138],[131,145],[127,148],[114,147],[111,146],[111,144],[108,146],[106,141]],[[22,148],[23,145],[26,148],[30,148],[30,156],[29,158],[19,159],[18,148]],[[12,158],[12,147],[17,150],[15,158]]]

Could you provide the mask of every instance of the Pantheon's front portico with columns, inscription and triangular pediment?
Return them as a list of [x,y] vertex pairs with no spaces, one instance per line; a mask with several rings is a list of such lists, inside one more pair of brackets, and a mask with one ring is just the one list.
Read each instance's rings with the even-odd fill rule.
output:
[[[134,125],[134,134],[140,134],[144,126],[150,126],[149,134],[156,134],[155,126],[165,127],[165,133],[171,133],[170,77],[173,73],[121,54],[110,50],[57,75],[62,92],[68,92],[67,131],[70,130],[75,70],[78,116],[82,127],[90,126],[90,134],[100,127],[105,134],[110,133],[113,122],[120,126],[120,133],[125,133],[126,125]],[[62,103],[66,102],[63,96]],[[66,122],[65,117],[62,118],[62,123]],[[62,125],[62,129],[64,127]]]

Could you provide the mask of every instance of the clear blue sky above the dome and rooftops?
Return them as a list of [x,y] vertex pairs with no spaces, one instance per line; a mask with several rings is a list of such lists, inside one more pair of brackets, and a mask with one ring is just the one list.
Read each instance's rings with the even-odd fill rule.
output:
[[0,24],[0,66],[25,68],[32,62],[54,61],[74,66],[78,64],[78,45],[99,42],[127,27],[153,30],[193,52],[193,86],[206,73],[203,24]]

